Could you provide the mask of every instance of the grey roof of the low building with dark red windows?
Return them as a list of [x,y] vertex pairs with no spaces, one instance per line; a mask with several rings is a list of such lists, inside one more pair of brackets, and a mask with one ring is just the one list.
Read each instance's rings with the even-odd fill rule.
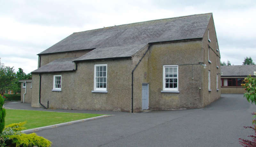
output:
[[256,71],[256,65],[221,66],[221,76],[248,76]]

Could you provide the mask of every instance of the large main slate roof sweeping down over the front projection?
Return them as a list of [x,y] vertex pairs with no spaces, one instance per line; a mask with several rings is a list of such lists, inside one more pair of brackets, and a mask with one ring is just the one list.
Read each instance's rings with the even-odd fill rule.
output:
[[211,16],[197,14],[77,32],[39,55],[94,49],[76,61],[131,57],[148,43],[202,38]]

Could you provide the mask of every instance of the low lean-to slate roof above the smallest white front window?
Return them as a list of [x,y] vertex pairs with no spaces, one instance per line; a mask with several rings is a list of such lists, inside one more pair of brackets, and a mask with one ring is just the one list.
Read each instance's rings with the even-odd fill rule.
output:
[[75,69],[75,63],[72,61],[77,58],[78,57],[56,59],[40,68],[34,70],[32,73],[72,71]]

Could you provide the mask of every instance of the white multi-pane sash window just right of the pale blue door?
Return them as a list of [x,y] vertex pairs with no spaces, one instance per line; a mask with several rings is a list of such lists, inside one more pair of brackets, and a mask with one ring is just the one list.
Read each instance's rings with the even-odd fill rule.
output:
[[163,90],[178,91],[178,66],[163,66]]

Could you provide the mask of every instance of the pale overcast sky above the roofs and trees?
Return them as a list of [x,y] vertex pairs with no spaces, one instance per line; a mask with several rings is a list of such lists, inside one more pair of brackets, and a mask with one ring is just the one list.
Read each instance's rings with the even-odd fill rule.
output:
[[73,32],[209,12],[220,60],[256,62],[255,0],[0,0],[0,58],[28,74],[37,69],[36,54]]

